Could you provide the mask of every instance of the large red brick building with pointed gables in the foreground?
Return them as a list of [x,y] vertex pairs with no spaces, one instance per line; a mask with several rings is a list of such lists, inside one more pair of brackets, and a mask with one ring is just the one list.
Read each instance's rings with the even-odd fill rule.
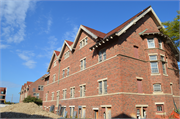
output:
[[107,119],[169,115],[173,100],[180,108],[179,53],[161,28],[151,6],[108,33],[81,25],[53,52],[43,109]]

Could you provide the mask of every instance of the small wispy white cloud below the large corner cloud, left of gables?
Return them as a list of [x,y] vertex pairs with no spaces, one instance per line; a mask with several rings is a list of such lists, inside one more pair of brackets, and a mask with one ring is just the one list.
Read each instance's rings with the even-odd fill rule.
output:
[[34,56],[33,52],[30,51],[19,51],[18,52],[18,56],[22,59],[25,60],[25,62],[23,63],[23,65],[27,66],[28,68],[32,69],[36,66],[36,62],[32,59],[32,57]]

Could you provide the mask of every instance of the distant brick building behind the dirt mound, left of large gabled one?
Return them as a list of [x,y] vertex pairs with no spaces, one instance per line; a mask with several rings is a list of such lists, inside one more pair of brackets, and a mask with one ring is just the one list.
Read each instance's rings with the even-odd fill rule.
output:
[[24,98],[26,98],[28,95],[43,99],[43,94],[44,94],[43,88],[45,83],[43,79],[47,79],[47,78],[48,78],[48,74],[45,74],[35,82],[28,81],[27,83],[25,83],[21,88],[19,102],[22,102]]

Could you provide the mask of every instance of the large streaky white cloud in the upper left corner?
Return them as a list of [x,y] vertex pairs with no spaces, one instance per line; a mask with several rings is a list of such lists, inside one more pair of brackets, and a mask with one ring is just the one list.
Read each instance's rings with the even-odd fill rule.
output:
[[20,43],[25,37],[25,18],[35,1],[0,0],[1,39],[8,43]]

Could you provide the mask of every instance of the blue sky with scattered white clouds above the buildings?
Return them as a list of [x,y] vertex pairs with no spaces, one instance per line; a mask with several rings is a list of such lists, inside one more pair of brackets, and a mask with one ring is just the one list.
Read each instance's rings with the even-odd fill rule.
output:
[[107,33],[152,6],[161,22],[172,21],[179,1],[1,0],[0,86],[19,102],[21,86],[47,73],[53,50],[74,41],[79,26]]

